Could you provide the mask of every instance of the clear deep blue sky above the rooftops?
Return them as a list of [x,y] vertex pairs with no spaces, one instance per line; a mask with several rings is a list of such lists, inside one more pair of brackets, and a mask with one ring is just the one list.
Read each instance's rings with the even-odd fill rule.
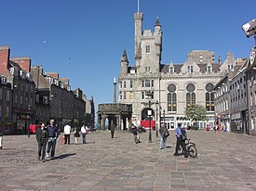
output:
[[[113,102],[113,78],[127,50],[134,66],[137,0],[0,0],[0,45],[11,57],[31,57],[32,66],[59,72],[73,89],[98,104]],[[182,63],[191,50],[210,50],[215,59],[231,52],[249,57],[254,46],[241,26],[256,18],[255,0],[140,0],[143,29],[163,31],[162,63]],[[217,60],[216,60],[217,61]]]

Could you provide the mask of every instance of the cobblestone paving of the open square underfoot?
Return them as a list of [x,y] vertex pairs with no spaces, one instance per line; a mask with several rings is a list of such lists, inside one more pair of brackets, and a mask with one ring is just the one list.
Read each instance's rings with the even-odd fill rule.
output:
[[198,158],[174,157],[175,137],[159,149],[148,131],[135,144],[128,132],[88,134],[88,144],[63,145],[56,158],[37,160],[35,135],[5,135],[0,150],[0,190],[256,190],[256,137],[246,134],[188,132]]

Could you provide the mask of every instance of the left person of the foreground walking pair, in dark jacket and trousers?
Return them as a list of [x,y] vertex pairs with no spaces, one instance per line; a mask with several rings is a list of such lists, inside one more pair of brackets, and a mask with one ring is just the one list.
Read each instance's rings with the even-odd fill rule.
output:
[[36,141],[38,144],[38,160],[42,159],[42,161],[45,162],[47,139],[48,139],[48,133],[47,133],[45,122],[42,122],[41,126],[36,128],[35,134],[36,134]]

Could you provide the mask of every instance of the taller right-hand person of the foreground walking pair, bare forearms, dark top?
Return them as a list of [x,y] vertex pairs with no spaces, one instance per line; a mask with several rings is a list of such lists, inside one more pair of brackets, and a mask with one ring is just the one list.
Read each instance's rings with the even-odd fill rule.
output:
[[54,159],[56,141],[59,136],[58,132],[58,127],[54,124],[54,120],[50,120],[49,124],[47,125],[47,158],[49,159]]

